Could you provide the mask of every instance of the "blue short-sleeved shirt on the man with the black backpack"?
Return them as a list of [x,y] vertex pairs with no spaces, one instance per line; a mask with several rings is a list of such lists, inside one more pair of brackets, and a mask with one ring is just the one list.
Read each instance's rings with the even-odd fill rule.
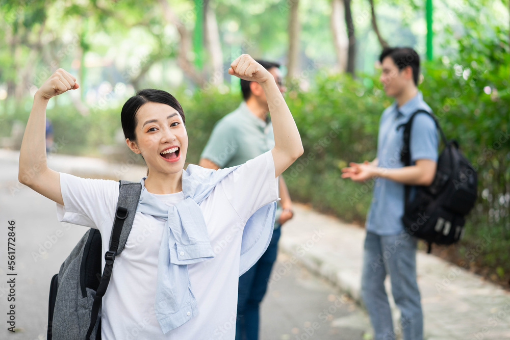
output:
[[[377,138],[378,166],[382,168],[401,168],[400,151],[403,145],[403,128],[397,127],[406,123],[417,110],[432,112],[423,101],[421,92],[397,108],[394,102],[384,112],[379,121]],[[438,159],[438,135],[436,124],[426,114],[417,115],[411,128],[411,162],[416,160]],[[367,231],[379,235],[396,235],[404,230],[401,221],[404,213],[404,185],[385,178],[375,180],[374,193],[367,217]]]

